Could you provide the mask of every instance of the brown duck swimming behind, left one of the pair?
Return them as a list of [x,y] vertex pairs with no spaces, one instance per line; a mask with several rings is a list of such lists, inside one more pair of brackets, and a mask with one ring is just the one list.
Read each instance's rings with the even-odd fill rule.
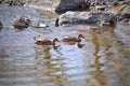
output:
[[55,45],[55,42],[60,42],[57,39],[54,39],[53,41],[48,39],[38,39],[36,40],[36,44],[38,45]]

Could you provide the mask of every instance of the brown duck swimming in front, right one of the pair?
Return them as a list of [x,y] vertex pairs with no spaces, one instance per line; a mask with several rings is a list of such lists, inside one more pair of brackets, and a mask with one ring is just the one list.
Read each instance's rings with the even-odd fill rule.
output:
[[78,38],[75,37],[64,37],[62,39],[63,42],[81,42],[81,38],[84,39],[82,34],[79,34]]

